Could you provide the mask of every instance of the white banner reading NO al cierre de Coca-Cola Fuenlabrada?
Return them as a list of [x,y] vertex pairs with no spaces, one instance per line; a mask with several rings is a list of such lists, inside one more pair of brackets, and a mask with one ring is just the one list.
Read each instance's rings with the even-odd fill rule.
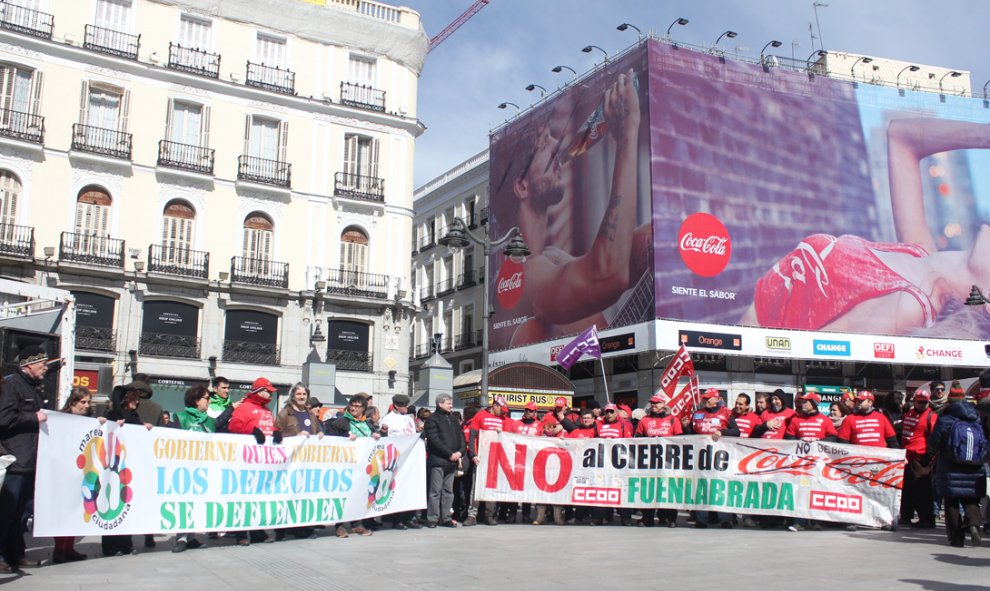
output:
[[904,451],[707,435],[557,439],[482,431],[479,500],[711,510],[860,525],[898,515]]

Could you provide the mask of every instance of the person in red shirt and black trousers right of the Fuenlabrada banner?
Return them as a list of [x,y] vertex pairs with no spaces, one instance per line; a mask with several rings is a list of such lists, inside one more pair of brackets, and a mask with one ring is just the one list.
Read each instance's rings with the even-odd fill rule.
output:
[[[915,529],[934,529],[935,511],[932,507],[932,472],[923,468],[920,460],[928,451],[928,436],[935,428],[937,417],[929,407],[931,394],[925,390],[914,393],[911,408],[901,416],[901,446],[907,450],[904,485],[901,489],[901,523]],[[918,513],[918,521],[911,517]]]

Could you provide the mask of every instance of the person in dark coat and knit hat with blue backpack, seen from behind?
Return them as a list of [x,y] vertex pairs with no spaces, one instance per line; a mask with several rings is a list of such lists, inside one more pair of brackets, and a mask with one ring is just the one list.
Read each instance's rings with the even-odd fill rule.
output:
[[[982,443],[983,456],[971,463],[962,461],[953,449],[956,447],[953,440],[969,441],[969,447],[977,451]],[[935,422],[927,445],[924,457],[917,462],[922,467],[928,467],[938,456],[935,463],[935,495],[943,499],[945,534],[949,545],[961,548],[968,533],[972,545],[979,546],[982,543],[980,499],[987,492],[987,439],[975,406],[966,401],[966,392],[958,382],[953,382],[949,388],[946,405]]]

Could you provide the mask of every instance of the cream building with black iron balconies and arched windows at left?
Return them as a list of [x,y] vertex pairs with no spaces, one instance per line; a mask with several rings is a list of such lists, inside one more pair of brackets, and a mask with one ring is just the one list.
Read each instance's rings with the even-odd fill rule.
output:
[[427,42],[369,0],[0,4],[0,275],[76,294],[77,382],[405,392]]

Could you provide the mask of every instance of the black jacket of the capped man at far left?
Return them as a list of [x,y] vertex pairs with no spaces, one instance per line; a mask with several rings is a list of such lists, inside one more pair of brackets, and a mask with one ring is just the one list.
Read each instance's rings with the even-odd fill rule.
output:
[[6,376],[0,390],[0,444],[17,461],[11,474],[34,472],[38,459],[38,416],[45,405],[42,384],[18,370]]

